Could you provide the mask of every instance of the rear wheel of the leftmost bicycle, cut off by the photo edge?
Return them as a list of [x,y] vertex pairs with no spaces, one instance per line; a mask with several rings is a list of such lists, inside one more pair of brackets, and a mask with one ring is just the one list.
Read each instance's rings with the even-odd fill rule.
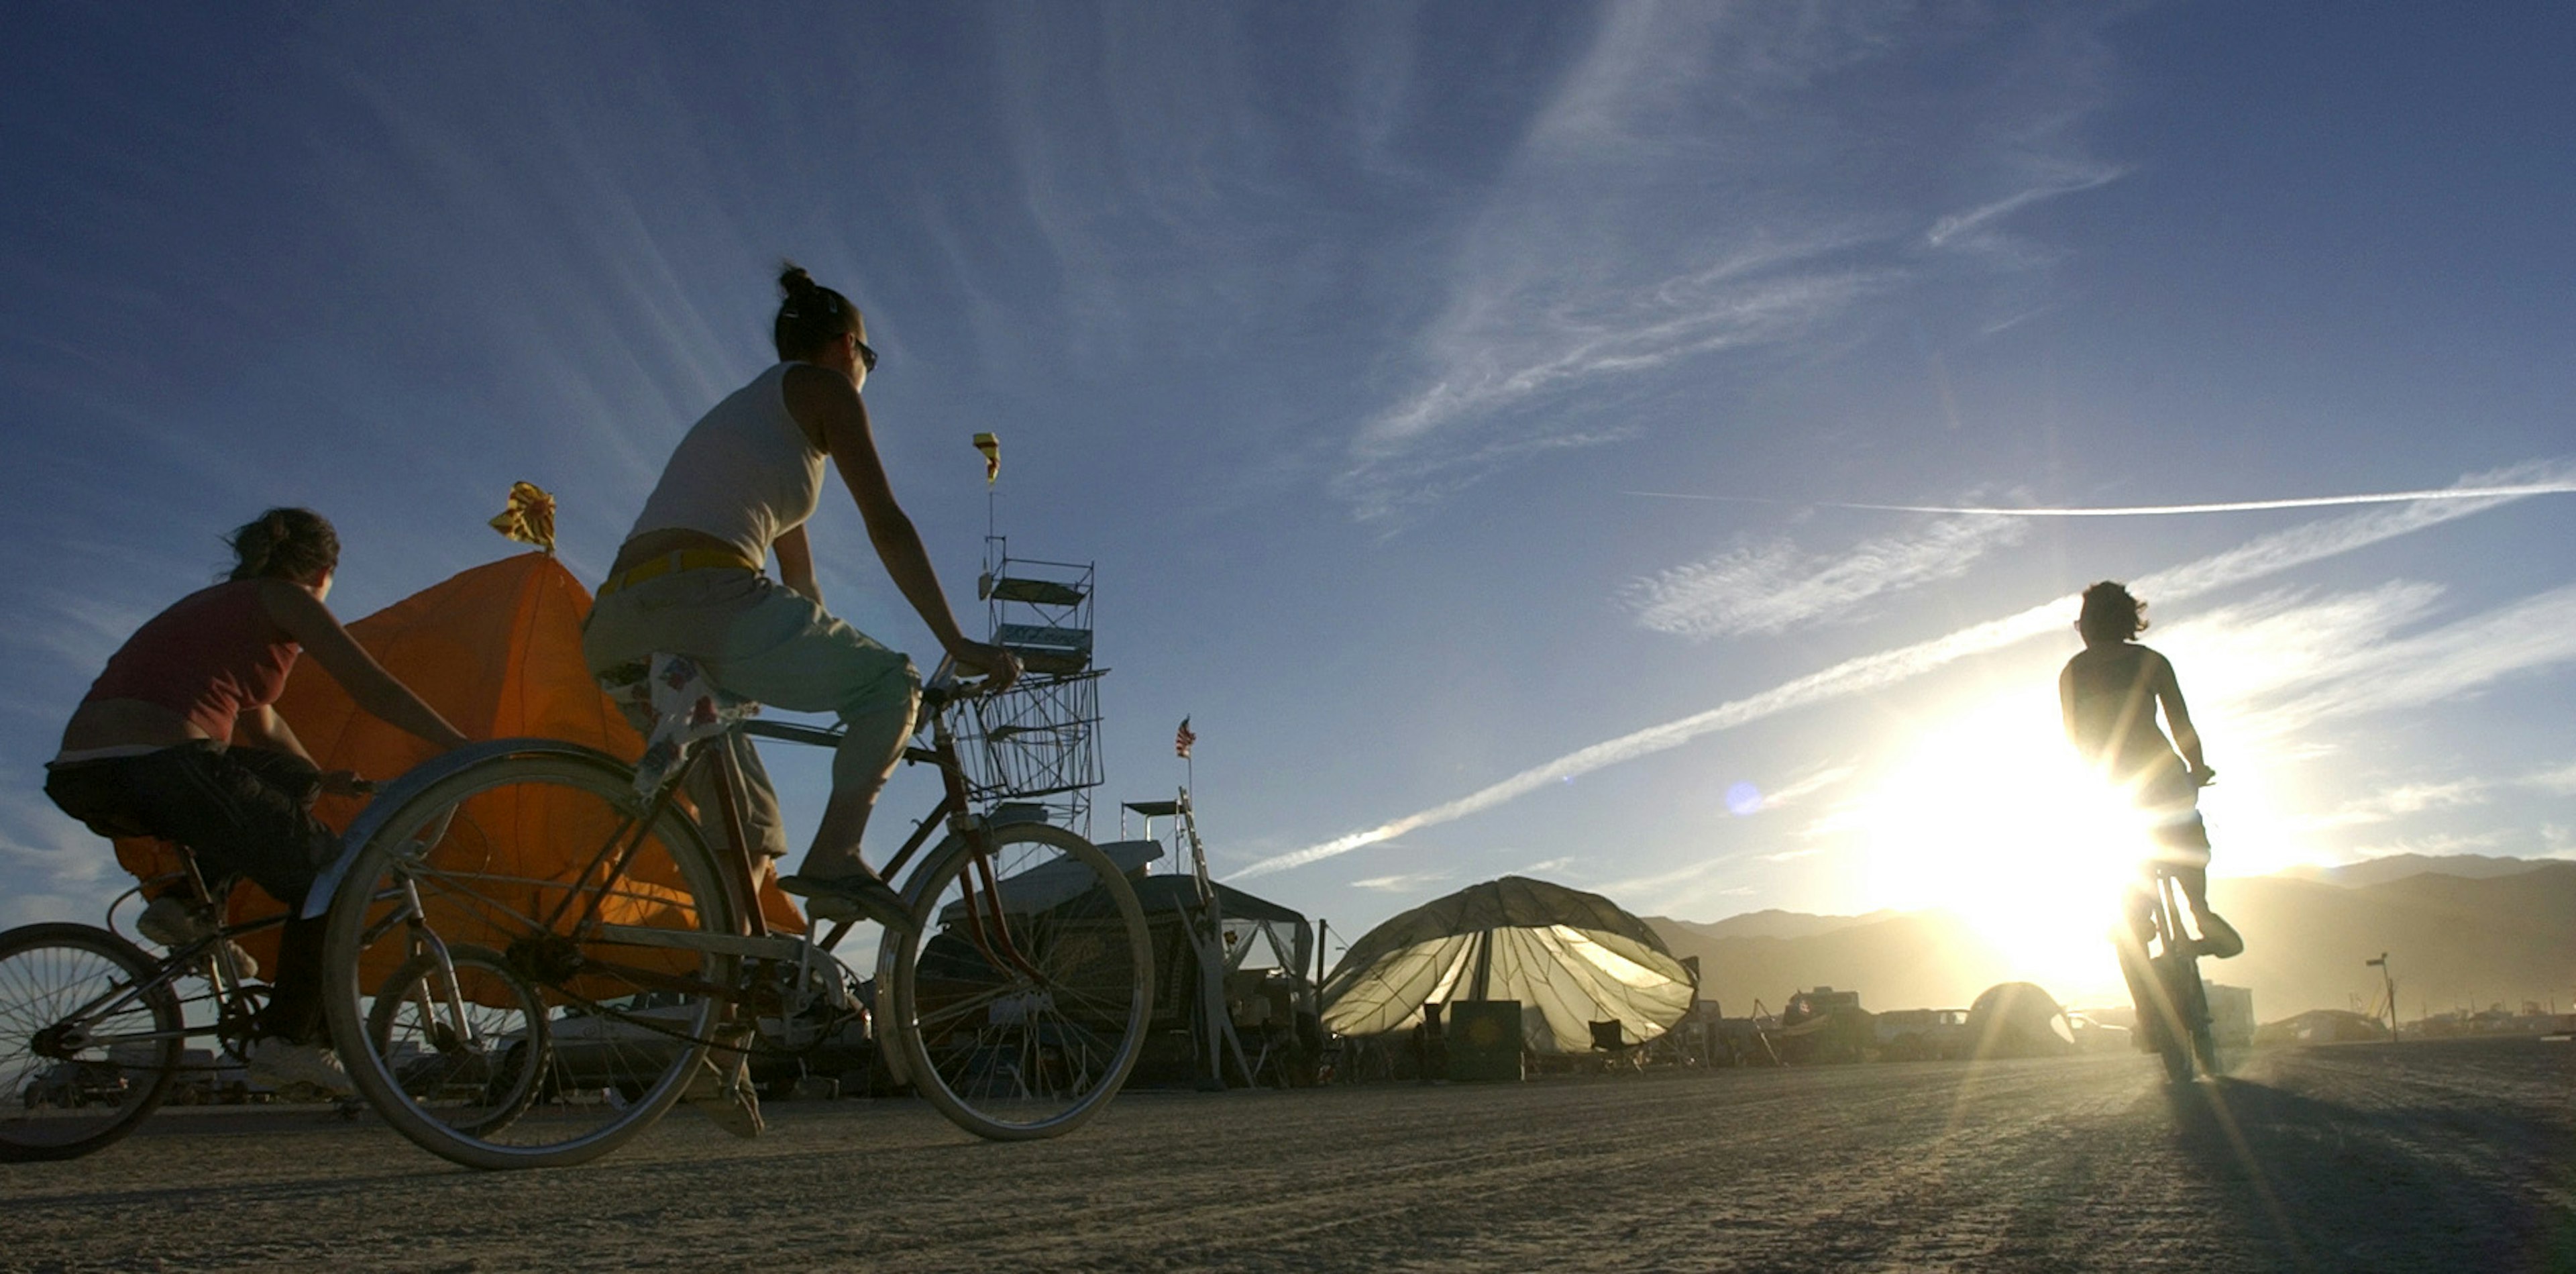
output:
[[[0,1161],[80,1158],[160,1109],[185,1032],[170,986],[147,986],[160,975],[160,960],[90,924],[23,924],[0,934]],[[100,1004],[106,1017],[90,1032],[152,1037],[67,1055],[36,1050],[39,1035]],[[88,1114],[93,1096],[111,1102]]]

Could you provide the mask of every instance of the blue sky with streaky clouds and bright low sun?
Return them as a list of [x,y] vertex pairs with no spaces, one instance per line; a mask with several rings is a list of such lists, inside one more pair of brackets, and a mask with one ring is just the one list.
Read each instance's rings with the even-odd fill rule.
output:
[[[1216,867],[1337,929],[1502,872],[1685,919],[1986,891],[2048,834],[2102,577],[2148,582],[2221,872],[2576,854],[2566,494],[1832,507],[2568,486],[2563,8],[10,26],[13,921],[111,891],[39,762],[224,528],[335,517],[355,618],[505,553],[531,479],[595,582],[768,363],[781,255],[868,311],[961,605],[976,430],[1012,543],[1097,559],[1103,806],[1180,782],[1190,715]],[[837,484],[817,548],[835,610],[930,649]]]

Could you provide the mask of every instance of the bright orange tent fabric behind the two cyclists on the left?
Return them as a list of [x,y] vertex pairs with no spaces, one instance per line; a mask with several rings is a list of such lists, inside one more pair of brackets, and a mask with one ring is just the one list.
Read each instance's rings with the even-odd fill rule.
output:
[[[644,754],[644,739],[618,715],[582,664],[587,613],[590,589],[572,571],[549,553],[520,553],[415,592],[350,623],[348,631],[469,739],[567,739],[634,762]],[[340,682],[309,659],[286,679],[278,715],[322,770],[392,780],[435,754],[430,744],[361,713]],[[325,795],[314,813],[335,829],[348,829],[361,806],[363,798]],[[562,836],[564,829],[546,826],[544,816],[497,826],[484,852],[505,860],[546,854],[551,844],[574,839]],[[142,878],[178,870],[170,849],[152,839],[121,839],[116,857]],[[232,896],[234,921],[278,911],[278,903],[258,888],[240,888]],[[762,883],[760,911],[773,932],[804,932],[796,906],[773,883]],[[245,947],[260,963],[270,963],[276,934],[255,934]]]

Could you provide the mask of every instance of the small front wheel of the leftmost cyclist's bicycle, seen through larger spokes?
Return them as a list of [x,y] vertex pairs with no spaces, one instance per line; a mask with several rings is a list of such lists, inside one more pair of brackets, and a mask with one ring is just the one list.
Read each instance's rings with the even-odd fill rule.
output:
[[[484,1004],[495,996],[510,1004]],[[500,952],[471,945],[448,947],[446,963],[420,952],[397,968],[366,1009],[366,1037],[379,1058],[410,1050],[415,1060],[397,1073],[402,1091],[422,1117],[469,1138],[526,1114],[551,1063],[546,1001]]]

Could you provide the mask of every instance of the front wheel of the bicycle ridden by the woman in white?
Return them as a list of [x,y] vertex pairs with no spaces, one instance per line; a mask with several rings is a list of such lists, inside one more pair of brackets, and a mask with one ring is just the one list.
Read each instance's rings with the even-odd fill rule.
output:
[[1046,824],[933,857],[899,939],[894,1032],[914,1089],[992,1140],[1056,1138],[1118,1094],[1154,1009],[1154,945],[1126,875]]

